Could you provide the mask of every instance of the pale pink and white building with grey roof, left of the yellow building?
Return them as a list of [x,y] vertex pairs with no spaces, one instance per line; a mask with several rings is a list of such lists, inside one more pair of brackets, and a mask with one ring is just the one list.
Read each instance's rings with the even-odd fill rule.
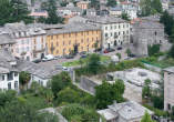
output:
[[12,44],[14,57],[33,61],[41,59],[45,53],[45,31],[24,23],[8,23],[1,31],[8,33],[16,42]]

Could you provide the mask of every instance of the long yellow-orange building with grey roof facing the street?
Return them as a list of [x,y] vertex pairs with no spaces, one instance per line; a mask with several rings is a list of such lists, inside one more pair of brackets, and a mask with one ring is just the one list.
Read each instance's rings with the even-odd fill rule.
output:
[[[98,44],[96,44],[98,43]],[[92,52],[101,47],[101,30],[86,23],[71,23],[48,31],[48,53],[66,55],[71,52]]]

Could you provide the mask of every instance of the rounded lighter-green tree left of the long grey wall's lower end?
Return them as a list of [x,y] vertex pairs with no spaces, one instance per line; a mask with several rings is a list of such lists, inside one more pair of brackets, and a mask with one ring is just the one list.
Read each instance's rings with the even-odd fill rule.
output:
[[65,88],[58,93],[57,103],[75,103],[80,101],[79,93],[71,88]]

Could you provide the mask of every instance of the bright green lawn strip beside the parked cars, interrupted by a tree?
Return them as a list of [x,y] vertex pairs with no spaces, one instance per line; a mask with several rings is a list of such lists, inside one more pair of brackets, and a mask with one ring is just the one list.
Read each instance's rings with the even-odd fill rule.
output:
[[[101,58],[101,62],[104,62],[104,63],[111,60],[111,58],[106,57],[106,55],[100,55],[100,58]],[[88,63],[88,61],[89,61],[89,57],[84,58],[84,59],[71,61],[71,62],[64,62],[64,63],[62,63],[62,65],[63,67],[76,67],[80,64],[85,64],[85,63]]]

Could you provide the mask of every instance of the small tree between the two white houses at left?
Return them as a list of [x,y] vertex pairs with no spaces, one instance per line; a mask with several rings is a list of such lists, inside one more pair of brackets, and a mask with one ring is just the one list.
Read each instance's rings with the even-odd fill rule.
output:
[[25,72],[25,71],[20,72],[19,82],[22,84],[22,87],[27,84],[27,89],[28,89],[28,83],[30,79],[31,79],[31,75],[29,72]]

